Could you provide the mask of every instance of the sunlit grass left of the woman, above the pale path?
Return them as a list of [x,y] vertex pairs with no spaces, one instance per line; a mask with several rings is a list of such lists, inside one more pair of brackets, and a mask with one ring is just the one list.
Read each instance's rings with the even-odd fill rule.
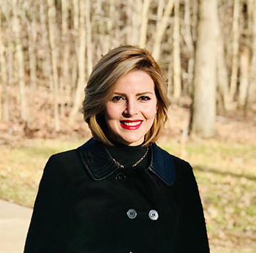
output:
[[0,198],[32,207],[50,155],[77,148],[82,143],[38,139],[26,140],[18,146],[0,146]]

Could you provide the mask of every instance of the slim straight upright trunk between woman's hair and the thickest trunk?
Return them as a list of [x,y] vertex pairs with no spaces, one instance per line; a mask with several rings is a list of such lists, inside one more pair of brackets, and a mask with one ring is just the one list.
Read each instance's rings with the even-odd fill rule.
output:
[[179,25],[179,0],[174,0],[173,27],[173,98],[178,101],[181,97],[181,49]]

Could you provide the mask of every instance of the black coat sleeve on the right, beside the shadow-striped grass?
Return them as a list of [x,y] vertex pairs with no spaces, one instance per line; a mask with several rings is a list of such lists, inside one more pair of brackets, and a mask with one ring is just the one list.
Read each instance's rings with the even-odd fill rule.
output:
[[192,167],[188,163],[186,165],[181,170],[182,204],[173,253],[208,253],[203,206]]

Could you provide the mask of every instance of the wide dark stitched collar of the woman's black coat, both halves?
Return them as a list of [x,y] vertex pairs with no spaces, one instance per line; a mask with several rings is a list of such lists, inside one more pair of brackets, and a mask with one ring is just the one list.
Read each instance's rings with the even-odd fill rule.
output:
[[[102,143],[94,138],[77,148],[77,154],[83,168],[96,181],[107,178],[119,168]],[[148,170],[168,186],[172,185],[176,177],[172,156],[159,148],[156,143],[151,145],[151,156]]]

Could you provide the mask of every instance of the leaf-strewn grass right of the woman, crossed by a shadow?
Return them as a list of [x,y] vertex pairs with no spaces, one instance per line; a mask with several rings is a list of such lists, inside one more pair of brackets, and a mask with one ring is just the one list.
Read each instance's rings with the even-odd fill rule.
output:
[[189,140],[162,146],[194,168],[211,252],[256,252],[256,145]]

